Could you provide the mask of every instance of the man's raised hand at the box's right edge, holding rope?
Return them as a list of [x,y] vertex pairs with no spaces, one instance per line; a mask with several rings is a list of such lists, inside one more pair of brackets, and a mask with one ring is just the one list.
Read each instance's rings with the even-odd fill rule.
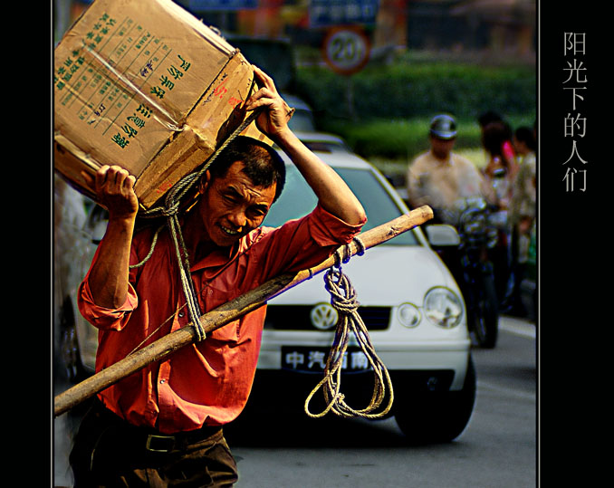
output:
[[257,66],[254,74],[261,86],[245,104],[246,110],[264,108],[256,119],[256,126],[269,138],[275,139],[281,132],[288,129],[288,120],[293,116],[294,109],[283,100],[275,88],[273,79]]

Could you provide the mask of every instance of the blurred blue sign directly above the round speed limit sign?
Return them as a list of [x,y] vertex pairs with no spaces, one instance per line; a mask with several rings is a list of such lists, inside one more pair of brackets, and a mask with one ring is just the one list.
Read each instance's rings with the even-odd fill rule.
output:
[[379,0],[312,0],[309,5],[311,27],[360,24],[375,25]]

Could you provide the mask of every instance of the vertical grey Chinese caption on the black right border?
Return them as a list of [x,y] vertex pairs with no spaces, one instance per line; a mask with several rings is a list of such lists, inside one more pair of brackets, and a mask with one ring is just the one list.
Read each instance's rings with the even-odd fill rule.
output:
[[564,33],[564,57],[566,79],[563,90],[568,91],[571,98],[571,111],[565,117],[564,137],[570,140],[570,157],[562,163],[565,167],[563,182],[566,192],[576,190],[586,191],[586,165],[589,162],[580,156],[582,139],[586,136],[586,118],[582,117],[581,109],[586,93],[586,67],[582,61],[586,54],[586,33]]

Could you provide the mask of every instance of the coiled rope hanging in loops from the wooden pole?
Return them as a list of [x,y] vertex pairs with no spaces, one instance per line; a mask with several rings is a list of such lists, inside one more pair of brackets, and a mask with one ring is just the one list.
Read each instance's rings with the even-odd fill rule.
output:
[[[360,242],[360,238],[355,237],[354,241],[359,246],[357,254],[364,254],[365,247]],[[337,250],[334,265],[324,274],[325,287],[331,293],[331,305],[338,311],[339,321],[337,321],[331,351],[326,359],[324,377],[306,398],[304,410],[308,416],[313,418],[325,416],[331,411],[335,415],[342,417],[381,418],[386,416],[392,407],[394,400],[392,381],[390,380],[388,369],[378,358],[375,348],[371,344],[369,330],[367,330],[358,312],[360,303],[356,299],[356,292],[351,285],[350,279],[341,271],[341,263],[347,263],[351,255],[349,246],[343,246],[342,249],[344,250],[344,255],[341,255],[341,249]],[[341,370],[350,341],[350,333],[356,338],[360,350],[368,359],[374,377],[373,393],[369,405],[361,409],[350,407],[345,402],[345,396],[341,393]],[[324,407],[321,413],[313,414],[309,409],[309,404],[320,388],[322,388],[326,407]],[[386,397],[387,388],[389,391],[388,405],[383,410],[377,412]]]

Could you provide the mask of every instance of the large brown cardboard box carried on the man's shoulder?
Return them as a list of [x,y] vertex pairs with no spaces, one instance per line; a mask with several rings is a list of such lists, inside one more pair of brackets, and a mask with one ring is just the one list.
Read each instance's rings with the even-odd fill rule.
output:
[[[95,0],[54,50],[54,167],[119,165],[156,205],[245,120],[252,65],[171,0]],[[245,129],[267,140],[252,124]]]

